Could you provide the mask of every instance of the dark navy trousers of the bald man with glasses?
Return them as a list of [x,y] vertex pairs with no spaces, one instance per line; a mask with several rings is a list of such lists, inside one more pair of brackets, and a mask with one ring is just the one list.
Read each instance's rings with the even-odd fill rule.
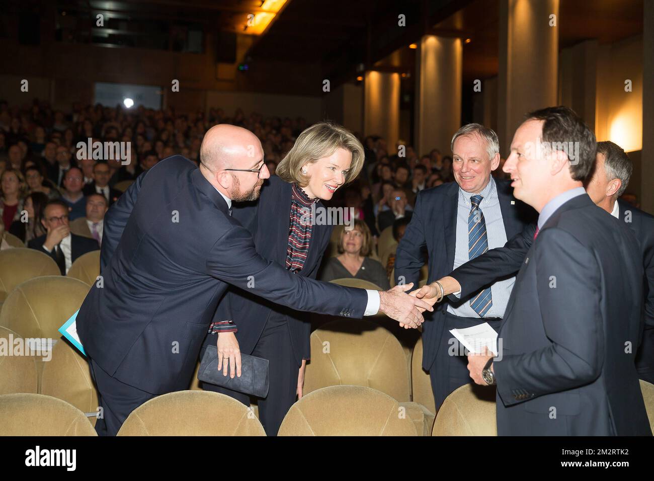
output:
[[95,422],[95,432],[98,436],[115,436],[129,413],[156,394],[141,391],[112,378],[93,359],[89,359],[89,365],[97,387],[98,404],[102,408],[102,417],[97,418]]

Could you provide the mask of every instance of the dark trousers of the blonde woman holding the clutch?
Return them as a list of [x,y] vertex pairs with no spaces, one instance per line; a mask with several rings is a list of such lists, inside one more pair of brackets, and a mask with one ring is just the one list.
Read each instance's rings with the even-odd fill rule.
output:
[[[213,342],[216,342],[213,334],[209,336],[213,338]],[[300,371],[298,361],[293,354],[285,316],[271,313],[252,355],[268,360],[270,380],[268,395],[264,399],[258,399],[257,406],[259,420],[266,430],[266,435],[277,436],[284,416],[296,400]],[[250,405],[250,397],[247,394],[208,383],[202,383],[202,389],[226,394],[246,406]]]

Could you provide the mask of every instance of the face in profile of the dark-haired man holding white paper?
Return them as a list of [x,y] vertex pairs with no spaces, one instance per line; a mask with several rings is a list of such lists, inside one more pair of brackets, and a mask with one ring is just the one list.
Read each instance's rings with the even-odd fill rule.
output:
[[523,122],[513,135],[511,154],[504,162],[504,170],[511,175],[513,196],[541,211],[545,202],[543,182],[551,177],[549,162],[543,149],[536,149],[543,135],[544,120]]

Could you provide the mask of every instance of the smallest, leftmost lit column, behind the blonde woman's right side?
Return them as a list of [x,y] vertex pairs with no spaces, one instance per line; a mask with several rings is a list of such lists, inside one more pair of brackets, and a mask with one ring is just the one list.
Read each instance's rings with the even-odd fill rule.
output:
[[364,136],[383,137],[392,154],[400,137],[400,74],[370,71],[364,82]]

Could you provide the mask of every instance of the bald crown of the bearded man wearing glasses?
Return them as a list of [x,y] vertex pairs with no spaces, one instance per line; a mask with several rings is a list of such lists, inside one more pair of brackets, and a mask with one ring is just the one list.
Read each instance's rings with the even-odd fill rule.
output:
[[212,171],[247,169],[249,164],[263,157],[264,151],[256,135],[230,124],[210,128],[200,146],[200,163]]

